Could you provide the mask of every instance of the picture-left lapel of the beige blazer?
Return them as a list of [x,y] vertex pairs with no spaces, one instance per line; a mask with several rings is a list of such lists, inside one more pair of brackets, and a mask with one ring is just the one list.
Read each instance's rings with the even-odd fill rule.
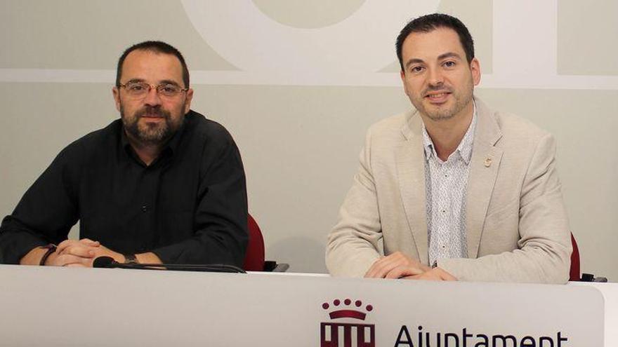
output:
[[405,215],[419,260],[428,264],[428,236],[425,203],[425,154],[421,135],[421,117],[414,112],[402,128],[406,141],[395,153],[397,178]]

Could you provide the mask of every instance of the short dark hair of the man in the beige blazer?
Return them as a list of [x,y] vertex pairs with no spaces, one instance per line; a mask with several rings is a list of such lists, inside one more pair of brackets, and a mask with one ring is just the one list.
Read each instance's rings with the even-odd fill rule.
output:
[[407,36],[413,32],[433,32],[433,30],[442,27],[453,29],[457,33],[459,36],[459,42],[461,42],[461,46],[463,47],[463,51],[466,52],[466,60],[468,60],[468,63],[472,62],[474,58],[474,40],[472,39],[472,35],[468,31],[466,25],[463,25],[461,20],[454,18],[451,15],[432,13],[430,15],[423,15],[422,17],[414,18],[409,21],[403,29],[401,29],[401,32],[399,32],[397,42],[395,43],[395,48],[397,49],[397,58],[399,58],[399,64],[402,71],[404,70],[401,50],[403,41],[405,41]]

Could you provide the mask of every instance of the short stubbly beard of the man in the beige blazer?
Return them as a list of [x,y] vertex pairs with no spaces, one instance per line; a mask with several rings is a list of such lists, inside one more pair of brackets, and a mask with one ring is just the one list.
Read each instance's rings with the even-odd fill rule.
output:
[[[410,101],[412,101],[414,107],[416,107],[421,114],[426,115],[432,121],[446,121],[459,114],[461,110],[470,104],[472,101],[473,88],[474,85],[472,82],[470,83],[469,88],[459,91],[454,90],[454,88],[450,86],[428,86],[428,88],[425,88],[418,96],[410,97]],[[451,106],[444,104],[439,107],[434,105],[428,105],[428,107],[426,107],[425,95],[431,91],[438,90],[450,94],[453,99]]]

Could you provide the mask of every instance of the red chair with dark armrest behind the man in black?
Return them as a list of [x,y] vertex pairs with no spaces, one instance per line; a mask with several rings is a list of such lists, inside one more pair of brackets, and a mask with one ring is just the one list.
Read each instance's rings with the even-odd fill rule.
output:
[[285,272],[288,264],[277,264],[277,261],[265,261],[264,238],[260,226],[251,215],[247,215],[247,229],[249,229],[249,244],[246,246],[244,257],[245,271],[272,271]]

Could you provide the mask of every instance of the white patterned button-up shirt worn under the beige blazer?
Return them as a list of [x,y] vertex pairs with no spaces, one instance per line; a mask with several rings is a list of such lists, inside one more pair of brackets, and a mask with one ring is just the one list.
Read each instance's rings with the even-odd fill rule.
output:
[[476,119],[475,105],[468,131],[447,161],[438,158],[423,125],[429,264],[438,259],[468,257],[466,191]]

